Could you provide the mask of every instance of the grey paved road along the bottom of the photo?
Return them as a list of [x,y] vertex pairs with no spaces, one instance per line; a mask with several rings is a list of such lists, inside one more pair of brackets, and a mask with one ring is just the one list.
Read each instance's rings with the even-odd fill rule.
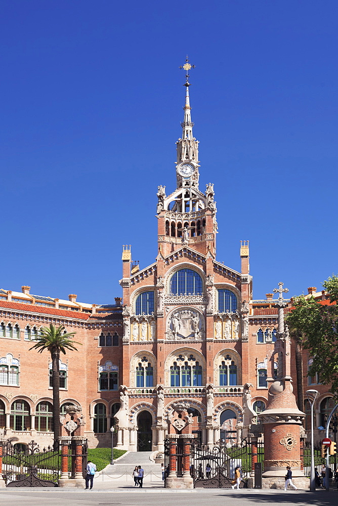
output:
[[265,506],[280,503],[283,506],[333,506],[337,503],[338,492],[280,492],[277,490],[248,490],[239,492],[234,490],[203,489],[187,492],[154,489],[144,490],[114,490],[114,491],[59,491],[56,489],[43,490],[14,490],[1,489],[0,502],[13,506],[64,506],[64,504],[80,504],[80,506],[174,506],[177,504],[193,503],[194,506]]

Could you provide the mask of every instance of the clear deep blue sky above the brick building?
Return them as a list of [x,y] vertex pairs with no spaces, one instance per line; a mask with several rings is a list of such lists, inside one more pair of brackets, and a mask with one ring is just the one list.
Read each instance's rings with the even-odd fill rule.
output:
[[107,304],[156,256],[188,53],[218,260],[254,298],[338,271],[336,0],[3,0],[0,287]]

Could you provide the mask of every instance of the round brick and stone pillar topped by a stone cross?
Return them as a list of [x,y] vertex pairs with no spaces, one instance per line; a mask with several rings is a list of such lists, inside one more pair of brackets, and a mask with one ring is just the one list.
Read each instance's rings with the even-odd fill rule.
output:
[[263,488],[283,489],[286,466],[290,466],[293,483],[297,488],[304,489],[309,488],[309,479],[305,478],[301,469],[300,429],[305,413],[298,409],[290,375],[291,341],[287,325],[284,324],[287,301],[283,299],[283,293],[287,293],[288,289],[283,288],[280,282],[274,292],[279,293],[276,301],[278,334],[270,354],[268,404],[266,410],[258,415],[264,427]]

